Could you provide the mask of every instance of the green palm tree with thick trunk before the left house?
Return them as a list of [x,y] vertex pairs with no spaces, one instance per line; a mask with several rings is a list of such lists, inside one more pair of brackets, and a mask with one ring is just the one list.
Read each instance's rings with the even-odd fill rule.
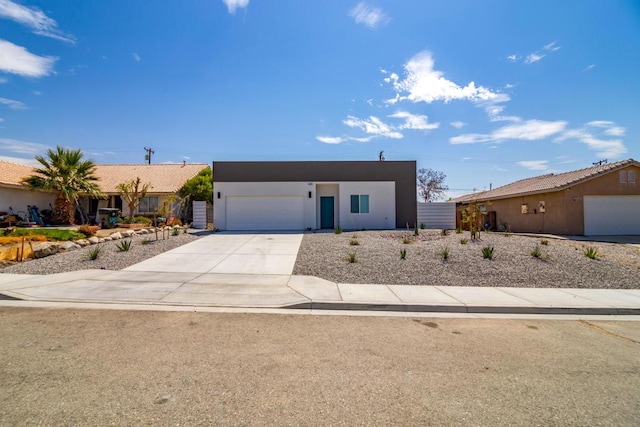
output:
[[55,191],[52,221],[73,224],[74,207],[80,194],[104,197],[94,175],[96,164],[93,160],[83,160],[82,151],[60,146],[55,151],[48,150],[47,157],[35,156],[42,167],[34,169],[34,173],[22,181],[34,189]]

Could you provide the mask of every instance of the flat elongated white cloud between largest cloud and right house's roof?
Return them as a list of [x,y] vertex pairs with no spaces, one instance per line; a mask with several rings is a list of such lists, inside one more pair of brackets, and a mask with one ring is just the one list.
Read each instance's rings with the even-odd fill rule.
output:
[[567,122],[564,121],[546,122],[543,120],[526,120],[503,126],[490,134],[470,133],[454,136],[449,139],[449,142],[451,144],[477,144],[509,139],[537,141],[562,132],[566,125]]

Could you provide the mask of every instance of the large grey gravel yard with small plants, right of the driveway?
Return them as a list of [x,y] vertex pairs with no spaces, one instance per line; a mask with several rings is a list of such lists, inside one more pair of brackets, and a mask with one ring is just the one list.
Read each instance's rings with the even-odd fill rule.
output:
[[[411,237],[414,242],[403,243]],[[547,259],[531,251],[543,239],[482,233],[481,241],[461,244],[469,232],[441,236],[437,230],[358,231],[342,234],[306,234],[294,274],[318,276],[339,283],[372,283],[433,286],[505,286],[540,288],[640,288],[640,251],[636,246],[614,243],[547,239],[540,245]],[[358,246],[350,245],[357,241]],[[493,246],[495,258],[483,259],[482,248]],[[585,256],[596,247],[597,260]],[[448,247],[450,258],[440,252]],[[406,249],[406,259],[400,251]],[[349,263],[349,253],[357,262]]]

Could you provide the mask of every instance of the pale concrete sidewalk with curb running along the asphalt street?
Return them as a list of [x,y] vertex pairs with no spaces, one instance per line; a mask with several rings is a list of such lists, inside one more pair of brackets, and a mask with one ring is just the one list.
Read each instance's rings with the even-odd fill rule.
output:
[[640,290],[333,283],[290,274],[84,270],[0,274],[0,294],[27,301],[403,312],[639,315]]

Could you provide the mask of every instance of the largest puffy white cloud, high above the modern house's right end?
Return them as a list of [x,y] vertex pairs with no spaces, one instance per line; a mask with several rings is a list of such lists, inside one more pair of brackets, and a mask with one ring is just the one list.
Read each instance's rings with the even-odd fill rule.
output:
[[415,55],[404,65],[404,69],[405,78],[402,80],[394,73],[385,78],[385,82],[392,84],[396,92],[395,98],[387,100],[387,103],[395,104],[398,101],[409,100],[429,104],[434,101],[449,102],[458,99],[497,103],[509,100],[508,95],[476,86],[474,82],[462,87],[447,80],[442,71],[434,69],[433,56],[428,51]]

